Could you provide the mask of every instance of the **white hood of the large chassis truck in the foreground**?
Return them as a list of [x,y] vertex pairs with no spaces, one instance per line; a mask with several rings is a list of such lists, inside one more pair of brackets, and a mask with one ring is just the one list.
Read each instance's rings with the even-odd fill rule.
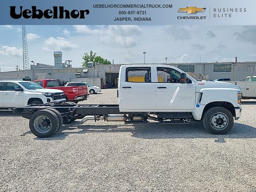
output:
[[240,87],[227,82],[196,81],[196,87],[201,88],[232,88],[240,90]]

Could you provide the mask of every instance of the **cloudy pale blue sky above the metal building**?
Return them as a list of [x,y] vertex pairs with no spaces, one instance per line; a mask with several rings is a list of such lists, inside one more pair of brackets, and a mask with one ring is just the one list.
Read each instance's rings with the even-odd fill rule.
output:
[[[80,67],[93,50],[115,64],[256,61],[256,26],[26,26],[29,60],[54,65],[54,51]],[[0,26],[0,68],[22,69],[21,26]]]

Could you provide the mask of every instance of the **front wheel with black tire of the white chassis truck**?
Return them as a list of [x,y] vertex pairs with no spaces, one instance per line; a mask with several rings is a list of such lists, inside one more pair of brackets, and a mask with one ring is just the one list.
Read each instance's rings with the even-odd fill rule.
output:
[[202,118],[204,128],[211,134],[222,135],[229,132],[234,125],[232,113],[223,107],[208,109]]

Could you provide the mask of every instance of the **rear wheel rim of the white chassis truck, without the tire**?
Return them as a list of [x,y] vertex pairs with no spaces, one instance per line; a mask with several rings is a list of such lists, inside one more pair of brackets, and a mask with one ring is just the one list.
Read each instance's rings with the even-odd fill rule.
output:
[[38,133],[47,133],[52,128],[52,121],[46,116],[38,116],[34,120],[34,128]]

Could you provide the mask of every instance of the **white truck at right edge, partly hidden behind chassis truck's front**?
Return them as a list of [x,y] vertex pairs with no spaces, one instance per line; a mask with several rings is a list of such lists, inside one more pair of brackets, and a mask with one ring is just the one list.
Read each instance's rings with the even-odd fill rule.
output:
[[244,81],[224,81],[238,85],[243,99],[256,99],[256,76],[248,76]]

